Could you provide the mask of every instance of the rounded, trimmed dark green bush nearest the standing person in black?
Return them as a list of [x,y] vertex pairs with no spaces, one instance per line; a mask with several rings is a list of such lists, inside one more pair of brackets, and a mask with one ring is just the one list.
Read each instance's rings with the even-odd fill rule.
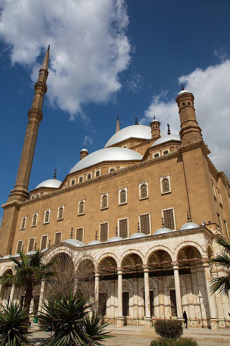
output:
[[183,334],[182,321],[179,320],[156,320],[154,328],[156,334],[162,338],[177,339]]

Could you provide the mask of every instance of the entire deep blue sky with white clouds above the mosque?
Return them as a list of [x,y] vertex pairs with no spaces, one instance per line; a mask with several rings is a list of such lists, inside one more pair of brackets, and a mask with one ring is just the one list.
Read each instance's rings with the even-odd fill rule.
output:
[[178,133],[174,100],[181,82],[195,96],[210,158],[230,178],[228,0],[0,0],[0,7],[1,203],[15,184],[48,44],[48,91],[30,190],[52,178],[55,168],[63,180],[84,144],[89,153],[104,147],[117,113],[121,128],[133,125],[135,116],[149,125],[155,115],[163,133],[167,122]]

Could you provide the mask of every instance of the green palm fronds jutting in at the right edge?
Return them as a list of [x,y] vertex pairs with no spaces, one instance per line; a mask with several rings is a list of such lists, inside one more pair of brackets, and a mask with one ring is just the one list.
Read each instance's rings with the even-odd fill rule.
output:
[[223,247],[221,254],[215,255],[209,263],[214,263],[217,267],[221,267],[225,276],[213,277],[211,279],[210,292],[220,290],[221,294],[227,295],[229,297],[230,291],[230,242],[226,239],[218,237],[215,240],[219,245]]

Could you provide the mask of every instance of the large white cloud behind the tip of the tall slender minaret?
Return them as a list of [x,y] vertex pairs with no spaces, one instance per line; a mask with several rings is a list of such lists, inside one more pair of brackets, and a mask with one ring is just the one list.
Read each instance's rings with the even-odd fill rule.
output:
[[[123,0],[0,0],[0,34],[11,62],[33,66],[50,44],[47,97],[70,113],[88,102],[106,102],[121,88],[118,74],[130,62]],[[83,115],[84,116],[84,115]]]

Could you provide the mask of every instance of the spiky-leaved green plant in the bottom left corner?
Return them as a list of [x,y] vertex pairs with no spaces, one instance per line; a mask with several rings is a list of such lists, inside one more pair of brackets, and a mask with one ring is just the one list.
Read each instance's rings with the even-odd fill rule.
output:
[[7,307],[1,305],[0,314],[0,346],[23,346],[31,344],[27,338],[25,329],[26,320],[29,317],[27,308],[20,307],[20,303],[12,303]]

